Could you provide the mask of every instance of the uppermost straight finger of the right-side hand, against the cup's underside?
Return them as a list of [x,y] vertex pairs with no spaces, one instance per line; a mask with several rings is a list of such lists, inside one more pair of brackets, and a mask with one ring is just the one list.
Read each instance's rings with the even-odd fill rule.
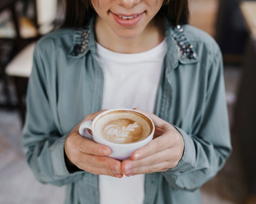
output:
[[159,151],[163,151],[164,149],[168,149],[172,147],[173,143],[177,142],[176,135],[173,136],[173,132],[166,131],[163,135],[151,140],[148,144],[144,147],[141,147],[135,150],[132,155],[132,160],[138,160],[142,158],[146,158],[150,155],[153,155]]

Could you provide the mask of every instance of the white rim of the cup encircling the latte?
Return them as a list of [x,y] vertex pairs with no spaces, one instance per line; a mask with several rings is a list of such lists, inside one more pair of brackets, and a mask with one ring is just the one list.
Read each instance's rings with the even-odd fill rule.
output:
[[[114,142],[111,142],[111,141],[109,141],[109,140],[107,140],[107,139],[104,139],[104,138],[98,136],[98,134],[96,134],[96,131],[94,131],[94,124],[95,124],[95,122],[98,120],[98,118],[101,117],[101,116],[104,115],[104,114],[107,114],[108,112],[113,112],[113,111],[118,111],[118,110],[133,111],[133,112],[137,112],[137,113],[140,113],[140,114],[146,116],[146,117],[150,120],[150,122],[152,123],[152,126],[153,126],[152,131],[150,132],[150,134],[149,134],[146,138],[144,138],[143,140],[140,140],[140,141],[135,142],[135,143],[114,143]],[[94,137],[94,136],[93,136],[93,134],[94,134],[94,135],[96,135],[97,139],[103,141],[106,145],[111,145],[111,146],[119,146],[119,147],[120,147],[120,146],[124,146],[124,147],[129,147],[129,146],[139,145],[139,144],[141,144],[141,143],[143,144],[143,143],[147,142],[147,141],[149,140],[149,138],[150,138],[150,140],[153,139],[154,132],[155,132],[155,124],[153,123],[153,121],[151,120],[151,118],[150,118],[149,116],[147,116],[147,115],[144,114],[143,112],[140,112],[140,111],[134,110],[134,109],[129,109],[129,108],[116,108],[116,109],[106,110],[106,111],[102,112],[101,114],[99,114],[98,116],[96,116],[96,118],[94,118],[94,120],[92,121],[92,137]],[[152,137],[151,137],[151,136],[152,136]],[[97,141],[97,143],[98,143],[98,141]],[[102,144],[102,143],[101,143],[101,144]],[[102,145],[105,145],[105,144],[102,144]]]

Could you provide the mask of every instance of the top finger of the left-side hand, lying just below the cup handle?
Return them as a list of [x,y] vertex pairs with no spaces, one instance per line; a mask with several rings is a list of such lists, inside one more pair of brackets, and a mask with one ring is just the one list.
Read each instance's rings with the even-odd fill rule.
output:
[[74,134],[72,137],[67,139],[67,142],[70,142],[75,149],[78,149],[84,153],[98,156],[109,156],[111,154],[111,149],[109,147],[83,138],[79,134]]

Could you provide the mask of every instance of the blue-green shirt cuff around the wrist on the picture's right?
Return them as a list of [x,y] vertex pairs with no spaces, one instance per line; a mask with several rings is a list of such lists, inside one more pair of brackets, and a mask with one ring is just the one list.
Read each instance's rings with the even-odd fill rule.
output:
[[183,173],[185,171],[189,171],[195,167],[195,160],[196,160],[196,154],[195,154],[195,145],[193,143],[193,140],[191,136],[186,134],[186,132],[179,127],[173,125],[178,132],[182,135],[182,138],[184,140],[184,151],[181,160],[178,162],[176,167],[173,167],[171,169],[168,169],[166,171],[170,173]]

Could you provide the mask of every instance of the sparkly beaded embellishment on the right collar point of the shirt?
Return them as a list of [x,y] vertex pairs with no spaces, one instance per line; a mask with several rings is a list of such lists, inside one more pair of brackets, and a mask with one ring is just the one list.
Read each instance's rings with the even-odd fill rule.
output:
[[182,61],[186,61],[186,59],[197,59],[193,45],[187,41],[182,27],[177,25],[174,27],[173,31],[174,44],[177,49],[178,58]]

